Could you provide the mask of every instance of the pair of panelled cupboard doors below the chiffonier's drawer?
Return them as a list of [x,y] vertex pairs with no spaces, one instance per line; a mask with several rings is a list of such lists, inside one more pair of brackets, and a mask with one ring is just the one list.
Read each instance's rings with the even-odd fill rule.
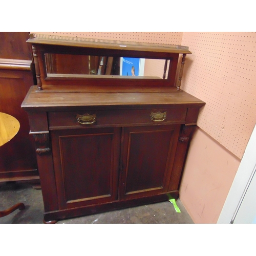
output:
[[50,131],[59,210],[174,190],[171,176],[180,128],[173,124]]

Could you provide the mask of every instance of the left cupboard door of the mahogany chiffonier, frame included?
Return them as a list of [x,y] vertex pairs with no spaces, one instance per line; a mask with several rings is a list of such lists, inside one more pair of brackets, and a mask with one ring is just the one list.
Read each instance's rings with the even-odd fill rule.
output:
[[59,208],[117,200],[120,129],[51,131]]

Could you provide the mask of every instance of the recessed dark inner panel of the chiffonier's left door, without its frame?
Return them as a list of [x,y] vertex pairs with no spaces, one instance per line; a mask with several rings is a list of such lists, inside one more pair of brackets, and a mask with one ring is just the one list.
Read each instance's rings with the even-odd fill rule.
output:
[[108,133],[59,137],[67,201],[111,195],[112,136]]

